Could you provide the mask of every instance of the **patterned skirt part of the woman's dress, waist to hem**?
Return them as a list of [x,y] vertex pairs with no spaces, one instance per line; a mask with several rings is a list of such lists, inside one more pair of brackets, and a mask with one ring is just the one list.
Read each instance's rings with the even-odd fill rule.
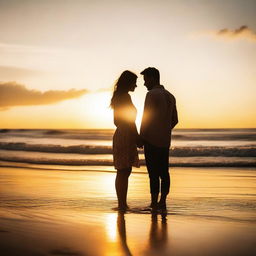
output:
[[140,167],[136,137],[130,129],[117,128],[113,136],[113,160],[115,169]]

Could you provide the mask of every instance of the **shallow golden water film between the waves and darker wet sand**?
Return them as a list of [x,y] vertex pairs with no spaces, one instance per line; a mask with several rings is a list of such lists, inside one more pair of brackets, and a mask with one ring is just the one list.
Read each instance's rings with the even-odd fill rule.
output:
[[[68,209],[111,212],[116,205],[113,169],[42,171],[1,168],[1,209]],[[101,169],[101,170],[100,170]],[[169,213],[256,221],[256,171],[234,168],[171,170]],[[131,207],[149,202],[146,170],[130,177]]]

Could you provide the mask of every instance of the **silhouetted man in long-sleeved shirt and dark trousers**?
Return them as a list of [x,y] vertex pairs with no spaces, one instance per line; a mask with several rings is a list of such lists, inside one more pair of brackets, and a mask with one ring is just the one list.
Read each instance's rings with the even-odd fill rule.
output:
[[[152,210],[166,209],[166,197],[170,189],[169,148],[171,131],[178,123],[175,97],[160,85],[156,68],[141,72],[148,89],[140,135],[144,141],[144,154],[150,179]],[[161,197],[158,202],[161,180]]]

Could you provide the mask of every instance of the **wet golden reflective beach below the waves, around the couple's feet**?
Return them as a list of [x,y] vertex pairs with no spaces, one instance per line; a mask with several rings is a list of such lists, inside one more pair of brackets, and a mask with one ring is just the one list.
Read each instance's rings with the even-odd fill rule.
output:
[[127,213],[108,166],[0,168],[0,251],[14,255],[255,255],[253,168],[171,168],[167,215],[142,208],[145,167],[133,169]]

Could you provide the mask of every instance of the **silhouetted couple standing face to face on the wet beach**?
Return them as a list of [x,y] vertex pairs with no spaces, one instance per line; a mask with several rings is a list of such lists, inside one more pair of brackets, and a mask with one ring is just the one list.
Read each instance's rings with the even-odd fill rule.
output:
[[[141,72],[148,89],[140,134],[137,132],[134,107],[128,92],[137,87],[137,75],[124,71],[118,78],[111,107],[114,110],[116,131],[113,137],[114,166],[117,169],[116,194],[118,208],[126,210],[128,178],[132,166],[139,167],[137,147],[144,146],[144,154],[150,179],[152,210],[166,209],[166,197],[170,188],[169,147],[171,131],[178,123],[174,96],[160,85],[156,68]],[[161,197],[158,202],[161,180]]]

